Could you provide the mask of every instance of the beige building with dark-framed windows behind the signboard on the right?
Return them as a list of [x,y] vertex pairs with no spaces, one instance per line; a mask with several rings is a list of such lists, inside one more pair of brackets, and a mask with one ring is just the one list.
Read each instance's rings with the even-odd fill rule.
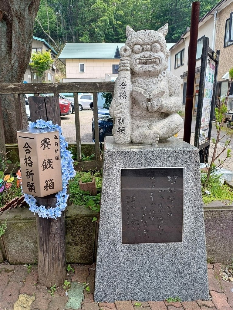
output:
[[[199,20],[198,45],[196,55],[195,87],[193,114],[197,112],[199,93],[199,78],[201,69],[201,54],[204,37],[209,38],[209,46],[213,50],[220,50],[220,61],[217,76],[217,97],[225,94],[229,80],[223,79],[233,67],[233,1],[222,0]],[[232,20],[232,22],[231,22]],[[185,110],[185,95],[187,86],[188,52],[190,45],[190,30],[187,30],[180,40],[170,48],[171,72],[180,77],[180,97]],[[233,86],[233,85],[232,85]],[[232,87],[233,88],[233,87]],[[231,94],[232,94],[231,89]]]

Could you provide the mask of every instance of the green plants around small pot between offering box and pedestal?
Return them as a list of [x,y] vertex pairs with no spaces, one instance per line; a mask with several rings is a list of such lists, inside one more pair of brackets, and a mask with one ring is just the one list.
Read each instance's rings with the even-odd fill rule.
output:
[[[92,181],[95,178],[97,193],[100,193],[102,187],[102,176],[99,171],[77,171],[76,176],[70,181],[70,198],[71,203],[77,206],[85,205],[89,200],[89,193],[80,189],[79,180],[84,182],[85,180]],[[90,182],[86,181],[86,182]]]

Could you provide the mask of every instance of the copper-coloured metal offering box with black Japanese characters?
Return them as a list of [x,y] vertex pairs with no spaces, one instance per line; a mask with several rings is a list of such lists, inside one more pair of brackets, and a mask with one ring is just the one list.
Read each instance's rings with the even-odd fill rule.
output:
[[45,197],[62,190],[59,131],[17,131],[23,193]]

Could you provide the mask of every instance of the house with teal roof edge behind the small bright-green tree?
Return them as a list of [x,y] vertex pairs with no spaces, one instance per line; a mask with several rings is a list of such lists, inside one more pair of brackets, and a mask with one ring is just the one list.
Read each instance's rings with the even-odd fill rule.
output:
[[[56,73],[56,63],[55,57],[57,52],[53,49],[51,45],[48,44],[44,39],[33,37],[32,40],[32,53],[33,52],[41,52],[41,51],[50,51],[51,58],[54,59],[52,65],[50,65],[50,69],[44,72],[44,81],[48,83],[55,82],[55,73]],[[29,65],[24,74],[24,82],[25,83],[41,83],[41,78],[36,73],[36,70],[32,69]]]

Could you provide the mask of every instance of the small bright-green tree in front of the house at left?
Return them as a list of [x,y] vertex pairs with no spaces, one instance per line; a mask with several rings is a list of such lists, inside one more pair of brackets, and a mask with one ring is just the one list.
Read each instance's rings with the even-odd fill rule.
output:
[[53,64],[53,59],[49,51],[34,52],[32,53],[32,62],[29,64],[33,69],[37,70],[39,77],[44,77],[44,71],[50,68]]

